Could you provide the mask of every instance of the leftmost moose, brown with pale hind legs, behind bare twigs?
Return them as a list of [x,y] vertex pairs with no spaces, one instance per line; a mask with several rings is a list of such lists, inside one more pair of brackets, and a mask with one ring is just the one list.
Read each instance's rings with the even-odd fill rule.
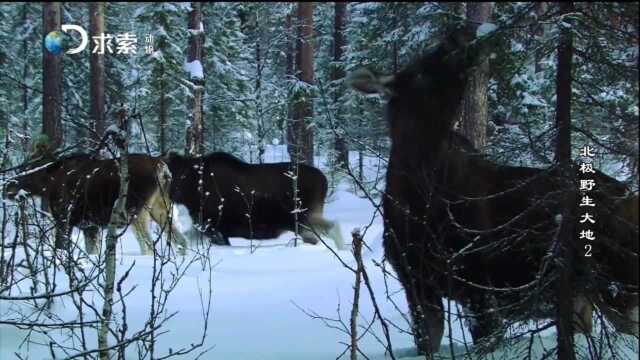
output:
[[[117,159],[97,159],[76,153],[57,160],[48,155],[35,158],[25,171],[7,184],[5,197],[14,199],[21,190],[45,199],[56,224],[55,247],[64,249],[73,227],[80,227],[89,254],[96,252],[99,227],[109,224],[111,210],[120,189]],[[153,241],[148,219],[153,219],[169,232],[181,253],[186,247],[184,236],[169,219],[171,173],[158,158],[145,154],[128,157],[129,187],[126,209],[143,254],[151,252]]]

